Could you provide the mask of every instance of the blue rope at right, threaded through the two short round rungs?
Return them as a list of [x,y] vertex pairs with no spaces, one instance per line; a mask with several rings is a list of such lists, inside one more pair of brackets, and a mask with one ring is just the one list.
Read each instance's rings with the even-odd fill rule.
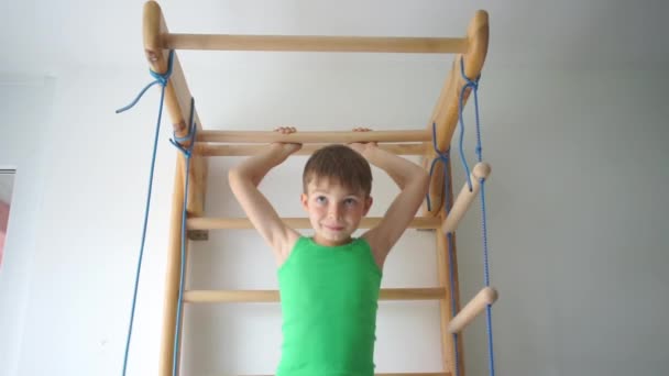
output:
[[[467,158],[464,157],[464,148],[462,146],[462,141],[464,139],[464,121],[462,120],[462,102],[464,99],[464,93],[467,88],[471,88],[474,93],[474,111],[475,111],[475,120],[476,120],[476,156],[479,162],[483,161],[483,148],[481,147],[481,120],[479,117],[479,79],[481,76],[476,77],[474,80],[471,80],[464,74],[464,59],[460,57],[460,74],[462,78],[465,80],[465,85],[462,86],[462,90],[460,91],[460,101],[459,101],[459,114],[460,114],[460,156],[462,159],[462,164],[467,172],[467,181],[469,185],[470,191],[472,191],[472,183],[469,173],[469,166],[467,164]],[[483,236],[483,279],[486,287],[490,286],[490,267],[489,267],[489,252],[487,252],[487,222],[486,222],[486,210],[485,210],[485,179],[481,178],[479,180],[481,185],[481,233]],[[492,329],[492,307],[487,305],[485,307],[485,323],[486,323],[486,332],[487,332],[487,355],[489,355],[489,371],[490,375],[495,375],[495,361],[494,361],[494,347],[493,347],[493,329]]]

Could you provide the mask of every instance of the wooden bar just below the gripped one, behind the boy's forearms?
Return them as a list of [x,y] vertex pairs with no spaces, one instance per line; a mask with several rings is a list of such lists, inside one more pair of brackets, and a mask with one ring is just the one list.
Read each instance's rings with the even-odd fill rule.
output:
[[[307,144],[293,155],[311,155],[326,145],[328,144]],[[427,145],[426,143],[379,144],[379,147],[396,155],[423,155]],[[255,155],[264,150],[266,150],[266,145],[220,145],[200,142],[195,144],[195,154],[201,156],[246,156]]]

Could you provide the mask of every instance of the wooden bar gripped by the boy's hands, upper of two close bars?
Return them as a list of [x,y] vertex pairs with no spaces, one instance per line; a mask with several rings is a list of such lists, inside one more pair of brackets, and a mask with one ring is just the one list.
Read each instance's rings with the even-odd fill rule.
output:
[[228,143],[351,143],[351,142],[426,142],[431,141],[428,130],[372,131],[372,132],[296,132],[282,134],[270,131],[201,131],[199,142]]

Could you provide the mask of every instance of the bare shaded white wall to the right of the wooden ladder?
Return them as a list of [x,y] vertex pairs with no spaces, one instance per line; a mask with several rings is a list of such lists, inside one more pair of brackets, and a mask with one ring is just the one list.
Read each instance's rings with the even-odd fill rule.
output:
[[[485,76],[496,355],[501,374],[665,375],[668,71]],[[469,217],[460,244],[479,244]],[[463,290],[482,280],[463,252]],[[483,323],[470,331],[483,375]],[[476,357],[480,362],[474,362]],[[480,372],[479,372],[480,371]]]

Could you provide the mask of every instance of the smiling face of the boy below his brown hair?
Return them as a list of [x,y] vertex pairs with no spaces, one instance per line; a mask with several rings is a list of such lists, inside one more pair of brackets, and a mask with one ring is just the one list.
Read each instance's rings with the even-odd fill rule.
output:
[[301,195],[301,206],[309,213],[314,241],[321,245],[347,244],[358,230],[360,220],[372,206],[372,198],[364,191],[353,191],[331,179],[311,179],[307,192]]

